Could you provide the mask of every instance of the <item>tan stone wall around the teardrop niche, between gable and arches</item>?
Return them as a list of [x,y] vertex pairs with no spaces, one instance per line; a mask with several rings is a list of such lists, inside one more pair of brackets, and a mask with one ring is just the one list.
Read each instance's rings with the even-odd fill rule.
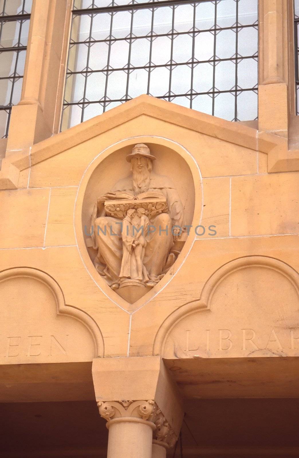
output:
[[[199,300],[210,276],[233,259],[268,256],[298,270],[298,172],[267,173],[266,153],[233,142],[234,138],[239,140],[236,124],[218,120],[227,130],[232,126],[235,131],[230,132],[231,141],[227,142],[219,138],[221,133],[217,138],[208,132],[211,127],[215,134],[217,128],[220,131],[209,115],[193,114],[147,96],[127,105],[135,110],[136,117],[126,120],[126,107],[118,107],[115,113],[122,115],[121,124],[101,134],[95,132],[96,126],[100,130],[105,118],[109,116],[112,120],[114,110],[90,120],[89,130],[94,126],[96,135],[84,138],[82,143],[84,125],[76,126],[67,134],[78,144],[65,151],[55,151],[56,139],[65,134],[38,144],[29,177],[28,169],[20,173],[23,189],[3,190],[0,194],[5,223],[0,229],[1,270],[26,266],[54,278],[66,304],[83,310],[98,324],[106,356],[152,354],[155,335],[167,316],[183,304]],[[150,105],[151,116],[146,114]],[[145,113],[139,115],[138,107],[145,107],[142,109]],[[175,127],[164,119],[171,115],[176,118]],[[191,119],[194,116],[194,120],[205,118],[206,131],[201,133],[178,125],[180,117],[183,119],[185,115]],[[249,127],[244,129],[248,136],[254,133]],[[155,138],[159,143],[161,137],[182,145],[191,156],[190,164],[196,164],[192,172],[194,183],[201,182],[203,198],[198,189],[193,224],[205,226],[206,234],[196,236],[191,231],[186,244],[188,251],[185,247],[180,255],[183,259],[177,260],[172,275],[168,273],[155,292],[129,305],[97,279],[92,267],[86,267],[86,248],[78,242],[81,223],[74,219],[81,208],[76,210],[75,203],[82,198],[81,180],[101,151],[118,142],[117,147],[139,141],[155,143]],[[38,151],[44,151],[47,142],[51,142],[49,156],[52,157],[39,162]],[[110,150],[106,154],[109,153]],[[216,235],[209,235],[211,224],[216,226]],[[246,305],[248,310],[250,300]],[[246,327],[246,323],[242,326]],[[8,333],[9,329],[8,322]]]

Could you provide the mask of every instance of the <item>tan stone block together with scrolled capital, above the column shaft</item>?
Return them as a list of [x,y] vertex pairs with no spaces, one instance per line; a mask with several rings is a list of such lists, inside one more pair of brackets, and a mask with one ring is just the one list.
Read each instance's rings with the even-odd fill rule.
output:
[[[160,356],[96,358],[92,376],[100,414],[109,418],[107,427],[116,421],[146,421],[155,430],[156,426],[167,426],[161,419],[162,412],[175,435],[179,435],[183,400]],[[162,440],[162,431],[160,436]]]

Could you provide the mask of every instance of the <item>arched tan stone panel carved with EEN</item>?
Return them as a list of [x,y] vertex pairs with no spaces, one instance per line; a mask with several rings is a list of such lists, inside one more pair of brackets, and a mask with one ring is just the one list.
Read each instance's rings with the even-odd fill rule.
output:
[[0,273],[0,364],[91,361],[104,356],[99,327],[65,305],[46,273],[17,267]]

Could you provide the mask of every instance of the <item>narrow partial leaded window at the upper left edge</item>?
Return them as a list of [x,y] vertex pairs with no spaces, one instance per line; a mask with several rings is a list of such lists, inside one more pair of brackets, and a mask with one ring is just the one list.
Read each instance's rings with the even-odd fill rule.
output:
[[0,0],[0,138],[21,98],[32,0]]

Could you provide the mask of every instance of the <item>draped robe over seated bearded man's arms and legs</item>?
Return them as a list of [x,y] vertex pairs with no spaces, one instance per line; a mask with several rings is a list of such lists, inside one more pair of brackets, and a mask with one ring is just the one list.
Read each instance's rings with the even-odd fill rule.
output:
[[[132,177],[118,181],[111,189],[111,192],[116,191],[136,195],[133,191]],[[155,226],[155,232],[146,237],[144,266],[149,278],[158,282],[176,259],[175,254],[171,252],[173,247],[172,226],[177,225],[183,228],[184,209],[177,190],[168,177],[151,172],[148,191],[161,192],[166,197],[169,208],[169,214],[161,213],[150,219],[150,224]],[[98,254],[94,265],[110,286],[118,283],[122,264],[120,223],[120,219],[106,215],[104,204],[99,207],[95,204],[91,218],[91,234],[94,249],[98,249]]]

